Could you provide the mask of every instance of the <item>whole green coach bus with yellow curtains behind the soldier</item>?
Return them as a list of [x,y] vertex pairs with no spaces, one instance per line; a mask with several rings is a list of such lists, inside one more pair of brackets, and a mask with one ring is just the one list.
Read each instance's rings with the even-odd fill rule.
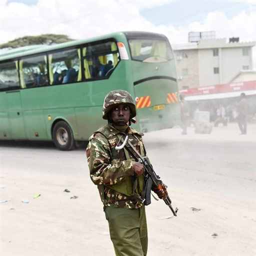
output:
[[104,124],[107,92],[134,97],[140,131],[172,127],[180,107],[175,60],[157,33],[116,32],[0,55],[0,140],[52,140],[61,150]]

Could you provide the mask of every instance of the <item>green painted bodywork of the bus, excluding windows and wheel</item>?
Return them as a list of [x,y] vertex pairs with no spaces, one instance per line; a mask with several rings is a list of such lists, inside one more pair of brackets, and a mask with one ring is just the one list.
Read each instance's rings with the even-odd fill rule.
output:
[[166,98],[168,93],[178,96],[174,58],[157,63],[133,60],[127,38],[129,35],[140,38],[140,34],[163,38],[163,35],[145,32],[118,32],[0,55],[0,64],[11,60],[20,66],[20,60],[26,56],[41,53],[48,56],[108,39],[122,42],[128,54],[128,59],[122,59],[119,53],[112,73],[102,79],[85,80],[82,75],[81,81],[72,83],[22,88],[19,71],[19,87],[0,90],[0,139],[52,140],[54,125],[65,121],[74,140],[87,140],[105,123],[101,117],[104,96],[114,89],[127,90],[134,99],[150,96],[150,106],[137,108],[137,122],[132,124],[135,128],[150,131],[173,126],[179,121],[180,107],[178,102],[168,103]]

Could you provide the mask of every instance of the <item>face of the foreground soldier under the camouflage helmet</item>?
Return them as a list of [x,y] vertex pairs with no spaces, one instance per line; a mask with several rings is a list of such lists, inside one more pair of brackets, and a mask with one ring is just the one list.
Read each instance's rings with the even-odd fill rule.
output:
[[125,125],[130,118],[130,108],[127,104],[118,104],[110,112],[111,120],[114,124]]

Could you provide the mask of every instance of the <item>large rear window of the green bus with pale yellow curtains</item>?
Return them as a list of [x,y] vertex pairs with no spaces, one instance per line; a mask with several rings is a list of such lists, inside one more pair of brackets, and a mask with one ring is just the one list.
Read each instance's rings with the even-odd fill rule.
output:
[[133,60],[142,62],[166,62],[173,58],[169,43],[161,38],[129,39]]

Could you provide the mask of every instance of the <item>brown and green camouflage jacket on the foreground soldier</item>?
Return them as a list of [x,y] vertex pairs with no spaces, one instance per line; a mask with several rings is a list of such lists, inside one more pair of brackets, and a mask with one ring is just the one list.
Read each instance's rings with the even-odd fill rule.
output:
[[[127,134],[129,141],[144,155],[142,134],[131,127],[128,127]],[[124,133],[107,124],[90,136],[86,148],[90,178],[98,186],[101,201],[105,206],[139,208],[143,205],[140,200],[133,195],[125,195],[111,188],[115,184],[127,182],[134,176],[132,156],[124,149],[118,151],[114,149],[121,135],[123,136]],[[114,152],[117,155],[114,156]]]

